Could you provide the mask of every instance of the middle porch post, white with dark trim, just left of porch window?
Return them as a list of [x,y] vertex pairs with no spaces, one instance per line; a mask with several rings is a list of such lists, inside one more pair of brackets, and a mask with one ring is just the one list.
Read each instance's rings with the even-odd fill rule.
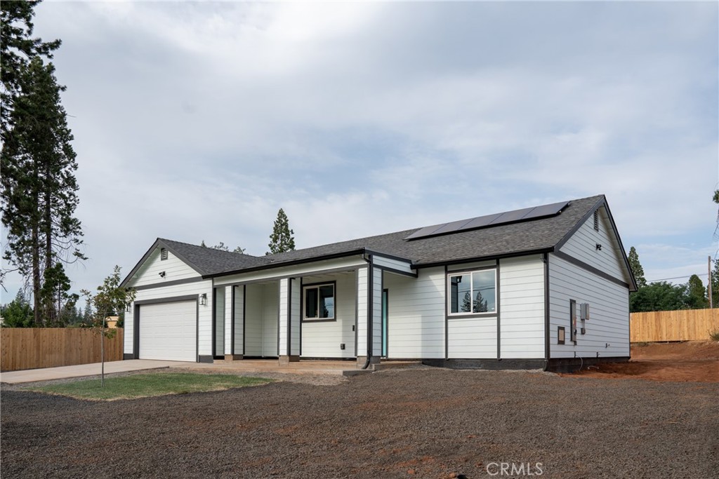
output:
[[280,279],[280,364],[300,361],[300,294],[298,279]]

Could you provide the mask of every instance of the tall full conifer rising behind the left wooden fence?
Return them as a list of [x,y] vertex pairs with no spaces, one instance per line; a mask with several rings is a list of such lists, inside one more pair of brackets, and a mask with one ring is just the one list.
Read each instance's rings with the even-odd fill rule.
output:
[[[13,100],[12,131],[3,144],[0,167],[2,222],[7,228],[6,264],[32,284],[35,325],[57,320],[58,289],[69,283],[58,262],[86,259],[82,228],[75,218],[73,135],[67,124],[55,67],[33,57],[19,75],[22,93]],[[53,287],[43,288],[46,282]],[[61,294],[60,294],[61,296]]]

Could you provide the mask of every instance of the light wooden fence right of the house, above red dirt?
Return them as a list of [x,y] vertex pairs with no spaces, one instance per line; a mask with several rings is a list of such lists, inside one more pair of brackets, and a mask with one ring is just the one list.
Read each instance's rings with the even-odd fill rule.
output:
[[633,312],[629,340],[631,343],[708,340],[709,333],[718,330],[719,308]]

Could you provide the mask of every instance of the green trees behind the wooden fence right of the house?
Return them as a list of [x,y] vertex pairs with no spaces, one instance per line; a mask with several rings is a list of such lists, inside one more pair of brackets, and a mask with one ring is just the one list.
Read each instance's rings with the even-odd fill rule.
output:
[[[629,250],[629,267],[638,286],[638,291],[629,296],[630,312],[701,310],[709,307],[707,287],[696,274],[684,284],[666,281],[647,283],[639,255],[632,246]],[[719,304],[719,260],[714,261],[712,271],[712,301]]]

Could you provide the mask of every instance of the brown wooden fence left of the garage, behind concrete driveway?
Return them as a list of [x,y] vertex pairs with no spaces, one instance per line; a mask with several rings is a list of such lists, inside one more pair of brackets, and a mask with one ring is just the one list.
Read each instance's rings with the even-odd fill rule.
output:
[[[122,359],[122,328],[105,338],[105,361]],[[100,362],[100,335],[79,327],[0,328],[0,371]]]

